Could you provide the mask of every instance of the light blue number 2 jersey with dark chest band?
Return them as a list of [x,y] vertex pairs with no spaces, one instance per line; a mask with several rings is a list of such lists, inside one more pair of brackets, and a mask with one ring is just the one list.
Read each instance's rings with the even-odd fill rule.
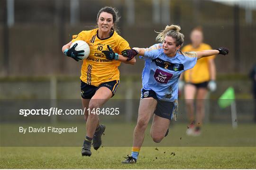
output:
[[182,72],[191,69],[197,62],[195,52],[178,51],[174,57],[168,57],[162,44],[145,49],[145,67],[142,72],[142,86],[153,90],[160,100],[174,101],[178,98],[178,80]]

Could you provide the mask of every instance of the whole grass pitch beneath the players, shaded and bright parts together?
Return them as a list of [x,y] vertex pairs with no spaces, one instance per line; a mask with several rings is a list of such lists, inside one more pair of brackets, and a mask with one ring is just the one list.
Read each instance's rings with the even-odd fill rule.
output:
[[256,169],[255,124],[239,124],[236,130],[208,124],[199,137],[187,136],[186,125],[176,124],[161,143],[152,142],[148,127],[136,164],[121,164],[131,154],[135,124],[105,124],[103,147],[91,148],[91,157],[81,155],[84,124],[76,124],[77,133],[63,135],[21,134],[19,125],[0,125],[0,169]]

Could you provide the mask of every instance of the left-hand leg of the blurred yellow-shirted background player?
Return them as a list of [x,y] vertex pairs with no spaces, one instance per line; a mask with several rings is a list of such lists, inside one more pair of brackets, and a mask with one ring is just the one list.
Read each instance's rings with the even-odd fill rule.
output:
[[187,114],[189,117],[190,125],[186,133],[191,135],[194,130],[194,96],[196,93],[196,87],[192,84],[185,84],[184,86],[184,97],[187,108]]

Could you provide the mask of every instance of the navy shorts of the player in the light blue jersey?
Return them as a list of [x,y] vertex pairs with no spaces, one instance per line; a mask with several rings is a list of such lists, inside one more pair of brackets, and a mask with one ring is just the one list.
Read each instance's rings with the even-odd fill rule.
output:
[[141,89],[141,98],[155,98],[157,101],[154,114],[172,120],[173,114],[178,112],[178,100],[163,101],[159,100],[153,90]]

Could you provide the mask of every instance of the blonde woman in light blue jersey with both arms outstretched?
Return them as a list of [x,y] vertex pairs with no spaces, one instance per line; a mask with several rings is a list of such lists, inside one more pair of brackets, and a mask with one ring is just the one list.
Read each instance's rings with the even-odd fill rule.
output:
[[180,51],[184,42],[181,27],[166,26],[156,40],[162,44],[155,44],[149,48],[133,48],[124,50],[123,56],[131,60],[139,54],[145,60],[142,72],[141,100],[138,109],[137,125],[133,134],[131,156],[122,163],[136,163],[139,150],[144,140],[147,124],[153,116],[150,129],[154,142],[159,143],[168,134],[172,119],[177,119],[178,112],[178,80],[182,72],[191,69],[197,60],[215,54],[226,55],[229,50],[220,47],[216,50],[200,52]]

